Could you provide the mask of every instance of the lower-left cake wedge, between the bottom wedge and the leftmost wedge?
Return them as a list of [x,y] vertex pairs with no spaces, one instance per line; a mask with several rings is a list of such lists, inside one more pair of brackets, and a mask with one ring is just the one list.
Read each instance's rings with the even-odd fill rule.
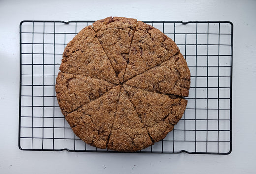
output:
[[74,133],[84,142],[105,149],[115,118],[121,86],[83,105],[65,117]]

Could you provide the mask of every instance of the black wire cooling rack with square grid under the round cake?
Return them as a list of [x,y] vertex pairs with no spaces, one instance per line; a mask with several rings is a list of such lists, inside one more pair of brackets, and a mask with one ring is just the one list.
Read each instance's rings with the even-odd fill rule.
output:
[[[93,22],[20,23],[20,149],[113,152],[87,145],[75,136],[55,93],[55,79],[66,44]],[[174,130],[136,153],[231,153],[233,24],[144,22],[160,29],[179,46],[191,71],[191,89],[186,111]]]

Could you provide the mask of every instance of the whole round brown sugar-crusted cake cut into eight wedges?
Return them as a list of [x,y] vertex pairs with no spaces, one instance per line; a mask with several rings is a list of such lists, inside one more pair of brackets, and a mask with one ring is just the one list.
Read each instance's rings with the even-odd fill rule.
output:
[[123,17],[98,20],[67,44],[55,86],[80,139],[124,152],[165,138],[186,109],[189,88],[190,71],[173,40]]

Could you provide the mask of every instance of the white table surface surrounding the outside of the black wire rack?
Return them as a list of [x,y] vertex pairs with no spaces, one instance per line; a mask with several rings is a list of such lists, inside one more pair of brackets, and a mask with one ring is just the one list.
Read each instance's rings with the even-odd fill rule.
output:
[[[226,20],[234,24],[229,155],[22,151],[18,148],[22,20]],[[256,172],[256,0],[0,0],[0,174]]]

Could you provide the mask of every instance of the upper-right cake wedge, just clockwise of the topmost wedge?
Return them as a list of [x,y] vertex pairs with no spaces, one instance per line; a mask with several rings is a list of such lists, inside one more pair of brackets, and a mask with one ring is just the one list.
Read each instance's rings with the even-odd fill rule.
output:
[[138,21],[128,55],[124,81],[161,64],[179,53],[177,45],[160,30]]

